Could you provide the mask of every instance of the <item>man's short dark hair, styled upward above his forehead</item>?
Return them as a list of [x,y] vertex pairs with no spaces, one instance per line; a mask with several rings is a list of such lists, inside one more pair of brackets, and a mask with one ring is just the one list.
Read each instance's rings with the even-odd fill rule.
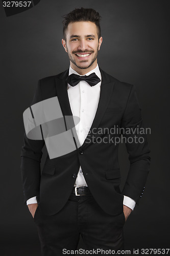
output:
[[100,27],[100,20],[101,16],[99,12],[96,12],[94,9],[86,9],[80,8],[69,12],[68,14],[63,16],[63,38],[66,40],[66,30],[69,23],[74,22],[93,22],[95,23],[98,29],[98,38],[101,37],[101,27]]

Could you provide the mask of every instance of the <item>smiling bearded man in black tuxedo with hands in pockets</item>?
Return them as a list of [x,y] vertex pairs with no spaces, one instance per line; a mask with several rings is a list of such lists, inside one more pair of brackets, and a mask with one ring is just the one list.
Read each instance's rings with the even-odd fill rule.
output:
[[[73,136],[76,149],[52,159],[48,155],[40,175],[44,140],[25,135],[21,150],[25,202],[38,228],[42,255],[62,255],[64,248],[75,250],[80,234],[89,250],[117,251],[124,248],[123,226],[141,197],[149,172],[147,138],[143,134],[142,141],[136,140],[141,136],[137,128],[143,127],[140,108],[134,87],[98,66],[99,13],[75,9],[65,16],[63,25],[62,45],[70,60],[69,70],[41,79],[32,105],[57,96],[63,118],[79,117]],[[116,143],[120,133],[109,140],[115,127],[132,131],[123,134],[130,169],[122,193]],[[132,135],[135,141],[130,140]]]

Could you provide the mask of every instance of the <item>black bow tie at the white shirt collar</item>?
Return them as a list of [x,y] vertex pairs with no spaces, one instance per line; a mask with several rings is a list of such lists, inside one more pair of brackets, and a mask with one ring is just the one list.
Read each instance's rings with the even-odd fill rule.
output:
[[95,73],[92,73],[89,76],[71,74],[67,77],[66,81],[70,84],[70,86],[76,86],[80,81],[86,81],[90,86],[95,86],[95,84],[100,82],[101,79]]

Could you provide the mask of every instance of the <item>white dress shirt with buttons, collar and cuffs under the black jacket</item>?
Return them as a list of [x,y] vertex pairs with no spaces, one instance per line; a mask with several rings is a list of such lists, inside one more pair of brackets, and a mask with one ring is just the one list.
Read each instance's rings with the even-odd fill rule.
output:
[[[86,81],[80,81],[75,87],[67,84],[67,92],[72,115],[80,118],[80,122],[75,126],[75,128],[81,145],[88,135],[100,98],[102,77],[98,65],[95,69],[86,73],[86,75],[90,75],[93,72],[101,79],[101,81],[95,86],[91,87]],[[80,75],[74,69],[69,67],[68,75],[71,75],[72,73]],[[81,166],[79,168],[75,186],[87,186]],[[37,203],[36,197],[27,200],[27,205],[31,203]],[[124,196],[123,204],[133,210],[136,203],[133,199]]]

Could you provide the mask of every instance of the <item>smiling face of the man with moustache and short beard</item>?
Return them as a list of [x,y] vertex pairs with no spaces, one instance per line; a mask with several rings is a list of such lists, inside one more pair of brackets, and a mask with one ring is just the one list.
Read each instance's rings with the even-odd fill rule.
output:
[[70,23],[66,30],[66,41],[62,39],[70,66],[79,74],[87,73],[96,67],[101,44],[102,37],[98,38],[97,27],[92,22]]

